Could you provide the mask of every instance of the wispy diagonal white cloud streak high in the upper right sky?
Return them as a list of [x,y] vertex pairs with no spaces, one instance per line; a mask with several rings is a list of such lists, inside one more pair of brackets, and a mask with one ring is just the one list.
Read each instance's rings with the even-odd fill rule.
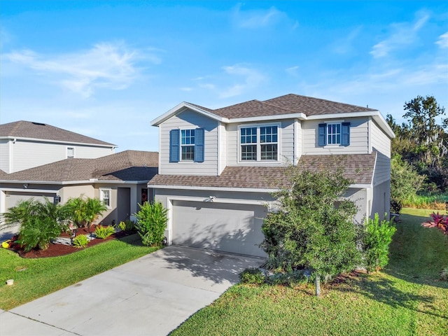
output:
[[386,57],[391,51],[405,45],[411,45],[416,40],[418,31],[429,19],[426,13],[419,13],[412,24],[408,22],[395,23],[391,25],[391,34],[388,38],[375,44],[370,51],[374,58]]

